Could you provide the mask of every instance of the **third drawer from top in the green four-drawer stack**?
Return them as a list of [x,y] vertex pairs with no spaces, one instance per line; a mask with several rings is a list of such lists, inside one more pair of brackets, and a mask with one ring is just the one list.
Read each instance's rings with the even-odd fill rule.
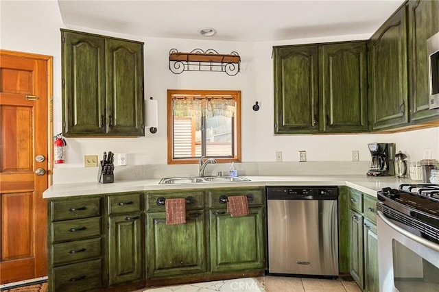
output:
[[101,239],[86,239],[69,243],[56,243],[52,248],[52,263],[54,265],[73,263],[87,258],[102,255]]

